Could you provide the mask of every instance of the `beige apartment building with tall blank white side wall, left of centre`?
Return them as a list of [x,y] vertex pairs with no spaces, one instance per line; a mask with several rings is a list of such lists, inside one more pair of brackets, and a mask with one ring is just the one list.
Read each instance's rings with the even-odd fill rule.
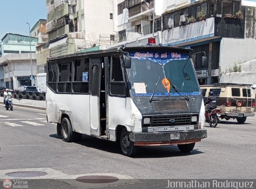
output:
[[112,0],[46,0],[46,8],[48,42],[36,47],[38,66],[46,68],[50,56],[104,48],[113,36]]

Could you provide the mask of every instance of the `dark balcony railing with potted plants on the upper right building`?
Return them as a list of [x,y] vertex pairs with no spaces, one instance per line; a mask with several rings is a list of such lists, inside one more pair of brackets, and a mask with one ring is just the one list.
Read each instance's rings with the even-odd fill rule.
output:
[[240,0],[206,0],[162,14],[163,30],[190,24],[210,17],[241,19]]

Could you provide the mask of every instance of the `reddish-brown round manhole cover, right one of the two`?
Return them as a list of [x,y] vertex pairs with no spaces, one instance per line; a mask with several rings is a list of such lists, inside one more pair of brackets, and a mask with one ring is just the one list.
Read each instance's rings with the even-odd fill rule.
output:
[[76,180],[82,183],[113,183],[118,181],[119,179],[111,176],[90,175],[78,177]]

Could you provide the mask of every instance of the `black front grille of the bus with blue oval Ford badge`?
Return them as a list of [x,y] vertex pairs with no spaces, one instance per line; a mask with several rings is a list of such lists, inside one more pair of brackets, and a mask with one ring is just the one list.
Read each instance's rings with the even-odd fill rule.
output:
[[175,125],[190,125],[191,115],[163,115],[154,116],[152,127],[158,126],[175,126]]

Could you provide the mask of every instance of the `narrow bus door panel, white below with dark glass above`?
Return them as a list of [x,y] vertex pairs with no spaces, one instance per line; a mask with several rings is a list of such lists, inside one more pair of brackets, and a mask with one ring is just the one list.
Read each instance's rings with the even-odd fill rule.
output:
[[92,58],[90,66],[90,130],[100,136],[100,76],[101,58]]

